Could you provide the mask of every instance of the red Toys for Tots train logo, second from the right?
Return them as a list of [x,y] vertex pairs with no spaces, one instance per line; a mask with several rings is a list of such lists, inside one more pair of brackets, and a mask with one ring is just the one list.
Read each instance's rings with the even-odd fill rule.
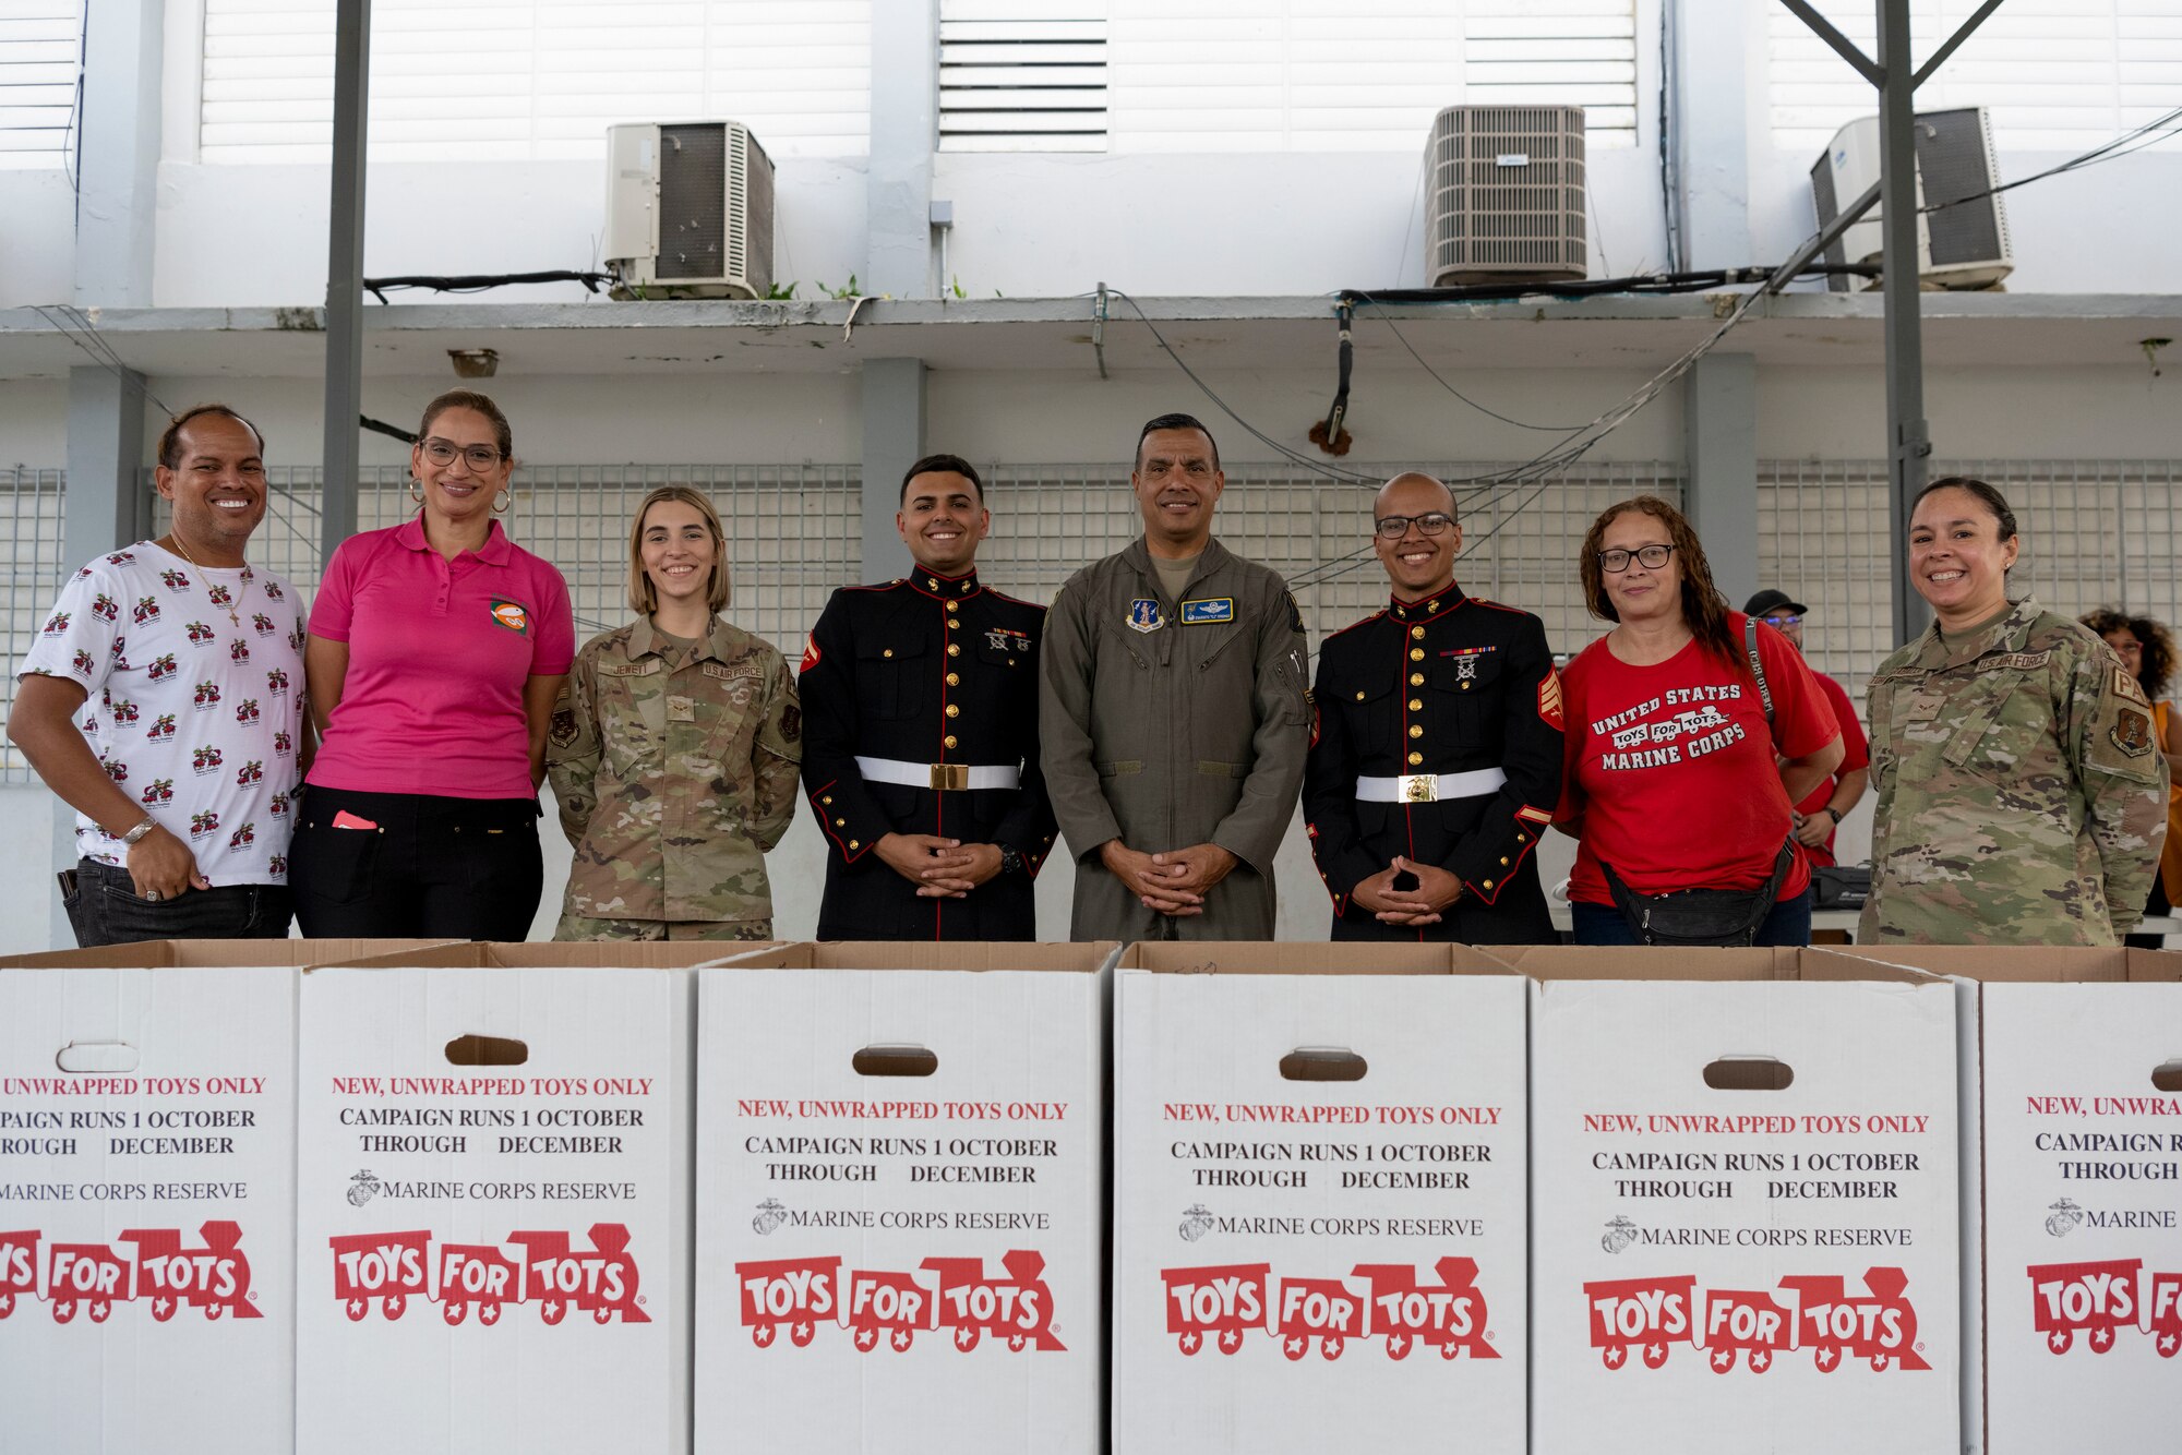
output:
[[1783,1278],[1787,1304],[1770,1289],[1711,1289],[1700,1298],[1693,1276],[1586,1283],[1584,1298],[1591,1346],[1610,1370],[1632,1352],[1656,1370],[1676,1344],[1706,1350],[1715,1374],[1733,1370],[1737,1355],[1763,1374],[1776,1355],[1800,1348],[1824,1374],[1844,1359],[1868,1359],[1874,1370],[1929,1370],[1916,1309],[1903,1296],[1907,1285],[1903,1270],[1872,1267],[1863,1272],[1868,1294],[1850,1294],[1842,1276]]

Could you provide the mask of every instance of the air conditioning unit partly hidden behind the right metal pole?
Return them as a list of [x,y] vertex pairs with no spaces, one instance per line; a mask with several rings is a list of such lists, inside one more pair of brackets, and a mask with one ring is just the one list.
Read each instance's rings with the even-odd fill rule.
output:
[[[1826,155],[1811,168],[1811,199],[1824,227],[1846,203],[1879,181],[1879,118],[1848,122],[1833,135]],[[1983,107],[1916,113],[1918,277],[1929,288],[1992,288],[2014,273],[2007,244],[2007,207],[1992,188],[2001,168],[1992,153],[1992,118]],[[1973,201],[1964,201],[1973,199]],[[1955,203],[1955,205],[1949,205]],[[1933,207],[1935,212],[1925,212]],[[1883,255],[1879,207],[1863,214],[1826,249],[1826,262],[1879,264]],[[1853,284],[1879,288],[1881,279],[1835,273],[1826,286],[1848,292]]]

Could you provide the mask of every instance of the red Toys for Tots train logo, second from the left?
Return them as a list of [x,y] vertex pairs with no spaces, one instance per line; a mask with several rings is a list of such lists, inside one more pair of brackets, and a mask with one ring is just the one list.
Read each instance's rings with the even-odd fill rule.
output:
[[[356,1202],[356,1189],[349,1200]],[[591,1246],[572,1248],[567,1232],[508,1232],[502,1243],[439,1243],[430,1230],[349,1232],[327,1239],[334,1248],[334,1298],[351,1320],[380,1313],[397,1320],[412,1298],[441,1307],[460,1324],[471,1309],[480,1324],[497,1324],[508,1304],[537,1304],[539,1318],[559,1324],[570,1311],[609,1324],[650,1324],[637,1294],[637,1261],[628,1256],[628,1228],[591,1224]],[[508,1248],[517,1252],[508,1252]]]

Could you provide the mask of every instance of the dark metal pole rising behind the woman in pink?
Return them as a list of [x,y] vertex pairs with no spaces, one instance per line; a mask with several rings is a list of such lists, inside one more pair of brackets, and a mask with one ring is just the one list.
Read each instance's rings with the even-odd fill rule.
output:
[[364,393],[364,131],[371,96],[371,0],[334,17],[334,196],[325,251],[325,484],[319,550],[356,534],[358,425]]

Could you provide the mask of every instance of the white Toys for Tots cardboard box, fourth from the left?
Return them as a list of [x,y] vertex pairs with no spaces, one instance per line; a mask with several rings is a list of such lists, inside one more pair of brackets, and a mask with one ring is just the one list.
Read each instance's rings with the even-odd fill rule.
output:
[[1525,982],[1447,945],[1137,945],[1113,1448],[1521,1453]]

